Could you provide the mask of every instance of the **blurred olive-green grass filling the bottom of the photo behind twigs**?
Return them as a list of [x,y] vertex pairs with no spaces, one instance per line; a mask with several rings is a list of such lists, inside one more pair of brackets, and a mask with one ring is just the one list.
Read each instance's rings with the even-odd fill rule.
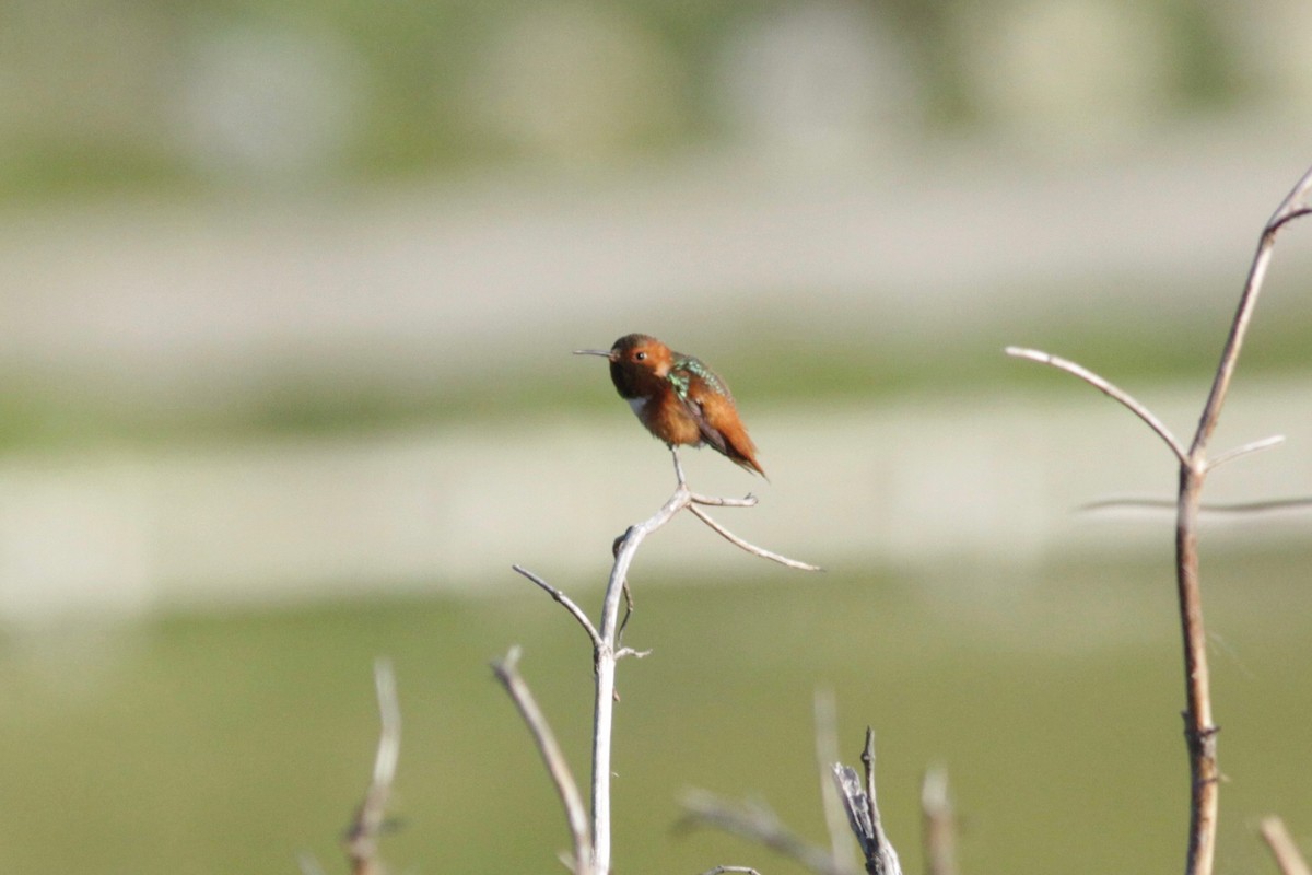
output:
[[[1221,855],[1261,857],[1256,817],[1308,823],[1312,594],[1307,555],[1204,563],[1224,731]],[[509,577],[509,572],[508,572]],[[837,691],[844,756],[878,732],[888,826],[916,858],[917,781],[945,762],[968,871],[1160,871],[1183,853],[1187,774],[1169,561],[942,573],[632,576],[615,754],[625,871],[752,863],[678,833],[698,786],[760,796],[821,841],[812,690]],[[597,593],[565,585],[588,606]],[[513,643],[580,775],[590,657],[530,586],[487,598],[177,615],[114,634],[7,639],[0,659],[0,861],[28,872],[329,867],[377,736],[370,665],[396,664],[404,741],[399,868],[539,871],[567,846],[548,782],[487,661]]]

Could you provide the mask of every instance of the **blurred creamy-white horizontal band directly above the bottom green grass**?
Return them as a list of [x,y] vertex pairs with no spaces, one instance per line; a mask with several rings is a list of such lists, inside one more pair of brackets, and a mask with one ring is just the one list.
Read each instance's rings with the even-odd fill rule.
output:
[[[1017,363],[1017,367],[1030,366]],[[775,412],[753,434],[773,480],[685,451],[694,488],[753,491],[714,516],[744,538],[842,571],[1025,567],[1072,552],[1170,555],[1169,509],[1076,513],[1173,493],[1173,457],[1138,420],[1064,375],[1042,397],[932,397]],[[1185,437],[1204,387],[1140,395]],[[1207,500],[1312,495],[1302,386],[1237,387],[1218,451],[1282,432],[1287,446],[1212,475]],[[520,585],[525,564],[572,592],[605,580],[610,542],[668,497],[668,454],[617,401],[585,422],[521,422],[222,449],[0,459],[0,615],[285,602],[367,590]],[[1218,516],[1208,547],[1305,539],[1312,514]],[[647,546],[635,580],[782,576],[697,521]],[[1166,565],[1164,565],[1166,567]],[[1019,580],[1023,576],[1017,576]]]

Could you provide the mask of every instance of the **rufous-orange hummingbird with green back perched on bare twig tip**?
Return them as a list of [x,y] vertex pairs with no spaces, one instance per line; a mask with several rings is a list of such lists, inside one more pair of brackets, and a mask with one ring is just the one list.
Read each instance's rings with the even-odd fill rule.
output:
[[610,379],[647,430],[676,453],[702,446],[765,476],[756,445],[739,418],[729,387],[695,356],[676,353],[648,335],[625,335],[606,349],[577,349],[576,356],[610,361]]

